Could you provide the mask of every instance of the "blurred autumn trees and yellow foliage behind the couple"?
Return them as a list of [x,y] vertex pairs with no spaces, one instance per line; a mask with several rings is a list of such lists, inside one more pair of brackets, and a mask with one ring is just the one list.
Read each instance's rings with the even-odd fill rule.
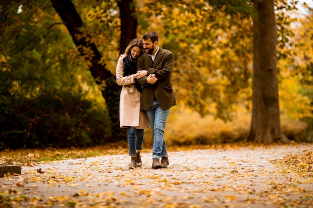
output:
[[[76,34],[56,8],[59,1],[0,2],[0,148],[126,140],[116,122],[116,61],[129,40],[149,30],[175,55],[178,105],[171,109],[166,141],[211,144],[247,136],[255,18],[250,0],[62,2],[71,2],[81,19]],[[296,5],[280,0],[274,7],[280,121],[288,139],[311,141],[312,13],[304,5],[306,14],[299,15]],[[151,141],[151,132],[145,133]]]

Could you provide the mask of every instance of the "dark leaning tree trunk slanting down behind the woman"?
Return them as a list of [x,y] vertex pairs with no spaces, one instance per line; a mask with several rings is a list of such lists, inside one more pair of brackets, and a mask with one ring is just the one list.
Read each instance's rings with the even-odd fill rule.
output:
[[97,84],[103,81],[106,84],[104,90],[102,90],[102,96],[105,99],[105,103],[111,119],[111,133],[112,137],[109,142],[116,142],[125,139],[125,132],[119,128],[119,92],[120,86],[115,82],[115,77],[105,68],[105,65],[99,64],[101,54],[98,51],[94,43],[90,43],[85,37],[77,39],[76,35],[81,35],[79,27],[83,26],[82,20],[77,13],[74,4],[71,0],[50,0],[52,6],[63,20],[67,27],[78,51],[83,54],[84,48],[90,48],[93,51],[93,56],[83,56],[86,61],[90,62],[90,72]]

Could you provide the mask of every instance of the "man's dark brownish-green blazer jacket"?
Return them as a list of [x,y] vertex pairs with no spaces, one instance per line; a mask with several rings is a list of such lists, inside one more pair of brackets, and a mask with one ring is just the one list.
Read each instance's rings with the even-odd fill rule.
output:
[[147,70],[147,76],[155,74],[158,79],[154,84],[148,84],[146,76],[138,79],[138,83],[143,86],[140,100],[140,108],[142,110],[151,108],[154,95],[163,109],[169,109],[171,106],[176,105],[174,90],[171,85],[173,66],[173,53],[163,48],[159,48],[157,51],[154,62],[146,53],[138,57],[137,71]]

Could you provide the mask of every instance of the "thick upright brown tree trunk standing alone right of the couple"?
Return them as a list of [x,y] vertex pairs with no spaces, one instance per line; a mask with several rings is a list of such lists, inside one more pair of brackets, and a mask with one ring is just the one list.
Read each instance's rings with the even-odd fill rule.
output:
[[252,117],[247,141],[287,142],[280,127],[273,0],[254,0]]

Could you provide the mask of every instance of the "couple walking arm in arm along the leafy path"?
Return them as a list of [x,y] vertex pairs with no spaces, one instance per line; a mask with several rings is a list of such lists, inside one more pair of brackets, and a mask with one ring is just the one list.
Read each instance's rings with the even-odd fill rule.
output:
[[119,120],[120,127],[127,128],[129,169],[142,165],[143,129],[149,127],[153,133],[152,169],[169,164],[164,128],[169,108],[176,105],[171,85],[174,56],[157,44],[155,32],[131,40],[116,65],[116,83],[122,85]]

